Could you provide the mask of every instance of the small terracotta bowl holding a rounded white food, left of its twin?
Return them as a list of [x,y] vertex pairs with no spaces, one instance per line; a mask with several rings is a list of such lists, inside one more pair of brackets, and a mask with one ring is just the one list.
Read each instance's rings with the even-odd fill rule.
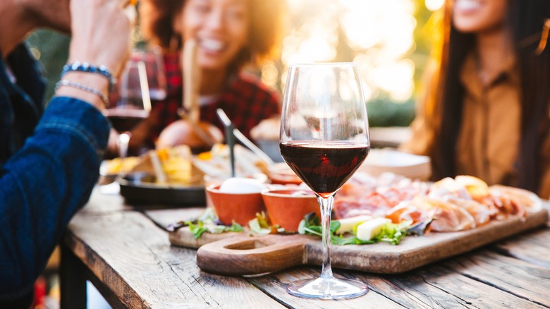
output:
[[220,192],[219,185],[208,186],[206,191],[219,221],[226,225],[231,225],[235,220],[238,224],[247,226],[257,212],[265,211],[261,193]]

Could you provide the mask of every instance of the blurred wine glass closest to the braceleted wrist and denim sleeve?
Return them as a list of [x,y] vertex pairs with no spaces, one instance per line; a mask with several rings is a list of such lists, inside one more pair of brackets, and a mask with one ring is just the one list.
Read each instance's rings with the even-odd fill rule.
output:
[[140,121],[147,118],[151,111],[147,69],[144,61],[130,57],[111,99],[113,100],[110,106],[104,109],[104,115],[118,132],[116,143],[121,158],[121,169],[118,176],[123,176],[125,174],[123,160],[128,154],[130,131]]

